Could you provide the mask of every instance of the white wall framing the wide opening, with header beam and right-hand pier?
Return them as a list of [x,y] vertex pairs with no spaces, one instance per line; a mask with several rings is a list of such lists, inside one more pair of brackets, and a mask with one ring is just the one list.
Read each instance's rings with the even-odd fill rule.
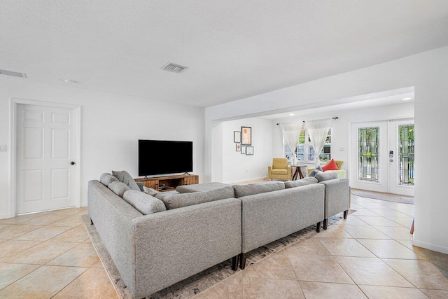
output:
[[[206,129],[214,120],[247,118],[273,112],[327,106],[332,101],[384,90],[414,86],[415,94],[415,239],[414,244],[448,253],[444,228],[448,211],[446,177],[430,175],[448,167],[440,160],[440,148],[447,148],[444,120],[448,114],[448,47],[404,57],[372,67],[349,71],[294,85],[255,97],[206,109]],[[206,132],[204,179],[211,176],[211,140]],[[421,161],[421,162],[419,162]]]

